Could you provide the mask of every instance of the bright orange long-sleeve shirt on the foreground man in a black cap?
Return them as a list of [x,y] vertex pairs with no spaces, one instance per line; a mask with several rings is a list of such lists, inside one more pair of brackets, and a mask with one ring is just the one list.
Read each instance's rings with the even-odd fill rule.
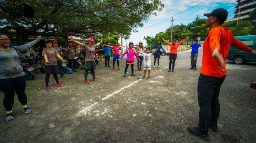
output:
[[230,45],[247,52],[252,50],[249,46],[236,39],[227,27],[218,26],[212,28],[204,41],[201,73],[206,76],[225,76],[227,73],[226,68],[221,68],[220,64],[212,57],[212,50],[215,48],[219,49],[225,61],[224,65],[226,66],[226,58]]

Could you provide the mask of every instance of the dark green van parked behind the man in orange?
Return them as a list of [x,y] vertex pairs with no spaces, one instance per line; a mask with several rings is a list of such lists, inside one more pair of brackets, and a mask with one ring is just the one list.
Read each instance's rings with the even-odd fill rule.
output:
[[[244,42],[245,45],[250,46],[253,50],[256,50],[256,35],[248,36],[235,36],[236,39]],[[230,46],[227,59],[233,60],[235,64],[244,64],[245,62],[256,62],[256,55],[252,55],[243,50],[239,50]]]

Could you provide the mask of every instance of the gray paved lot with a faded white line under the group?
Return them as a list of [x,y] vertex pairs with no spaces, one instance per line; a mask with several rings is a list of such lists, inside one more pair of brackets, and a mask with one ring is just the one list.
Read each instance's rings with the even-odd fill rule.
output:
[[[0,105],[0,143],[204,143],[191,135],[186,126],[198,120],[197,81],[201,69],[189,70],[189,53],[179,53],[175,73],[167,72],[168,56],[161,56],[161,68],[151,68],[151,79],[123,77],[121,70],[96,67],[96,78],[84,83],[84,70],[59,79],[56,87],[50,76],[45,91],[44,74],[26,82],[32,113],[21,112],[15,96],[14,119],[5,121]],[[112,63],[112,60],[111,60]],[[136,62],[137,63],[137,62]],[[151,60],[153,64],[153,60]],[[134,66],[135,72],[137,67]],[[39,70],[38,70],[39,71]],[[227,77],[221,87],[219,132],[209,131],[208,143],[253,143],[256,134],[256,64],[227,63]],[[139,71],[143,76],[143,71]],[[3,93],[0,93],[3,101]]]

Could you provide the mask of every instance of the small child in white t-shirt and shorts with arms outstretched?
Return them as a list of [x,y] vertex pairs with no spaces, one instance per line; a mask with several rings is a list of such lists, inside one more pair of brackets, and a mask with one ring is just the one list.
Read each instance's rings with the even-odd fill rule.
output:
[[146,53],[142,53],[140,51],[138,51],[138,53],[142,53],[143,54],[143,59],[144,59],[144,63],[143,63],[143,70],[144,70],[144,76],[143,79],[146,78],[146,73],[148,70],[148,78],[150,79],[150,70],[151,70],[151,56],[152,54],[154,54],[158,49],[156,49],[154,52],[149,53],[150,52],[150,48],[146,48]]

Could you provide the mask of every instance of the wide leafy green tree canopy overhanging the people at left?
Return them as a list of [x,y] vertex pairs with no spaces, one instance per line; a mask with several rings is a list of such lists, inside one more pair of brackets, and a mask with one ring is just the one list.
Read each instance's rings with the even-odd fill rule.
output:
[[[5,11],[22,3],[33,8],[34,18],[10,17]],[[0,3],[0,32],[21,37],[19,44],[38,34],[66,39],[68,35],[88,38],[108,34],[128,38],[131,31],[162,9],[160,0],[6,0]]]

